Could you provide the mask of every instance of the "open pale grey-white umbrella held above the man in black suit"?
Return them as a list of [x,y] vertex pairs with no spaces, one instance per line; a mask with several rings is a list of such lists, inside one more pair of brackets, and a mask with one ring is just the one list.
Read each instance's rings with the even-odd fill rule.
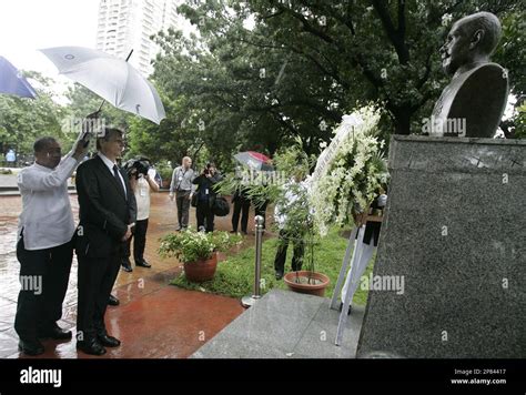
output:
[[155,88],[130,63],[83,47],[40,50],[59,72],[93,91],[118,109],[160,123],[166,118]]

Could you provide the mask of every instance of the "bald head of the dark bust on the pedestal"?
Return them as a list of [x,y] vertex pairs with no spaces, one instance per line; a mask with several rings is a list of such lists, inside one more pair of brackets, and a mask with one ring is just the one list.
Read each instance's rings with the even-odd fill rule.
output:
[[477,12],[456,21],[441,48],[442,67],[447,74],[469,64],[488,62],[502,36],[498,18]]

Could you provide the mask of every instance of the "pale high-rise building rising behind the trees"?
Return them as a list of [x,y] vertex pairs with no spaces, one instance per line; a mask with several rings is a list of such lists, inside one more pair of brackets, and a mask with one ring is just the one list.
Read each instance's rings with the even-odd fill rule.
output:
[[176,13],[182,0],[100,0],[97,49],[125,59],[148,77],[159,47],[150,37],[185,20]]

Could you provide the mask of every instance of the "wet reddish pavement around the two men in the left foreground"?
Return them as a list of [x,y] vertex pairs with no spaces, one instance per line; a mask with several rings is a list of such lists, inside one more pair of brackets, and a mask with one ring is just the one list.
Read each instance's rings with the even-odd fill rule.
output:
[[[70,200],[77,219],[77,196],[71,195]],[[20,196],[0,198],[0,358],[24,357],[18,352],[18,335],[13,328],[20,290],[18,281],[20,265],[16,257],[20,211]],[[195,227],[193,207],[190,219],[190,225]],[[216,219],[216,229],[230,231],[230,215]],[[107,327],[111,335],[122,341],[122,345],[108,348],[108,353],[102,357],[185,358],[243,312],[239,300],[169,285],[170,281],[181,273],[182,266],[175,259],[161,259],[156,254],[156,249],[159,237],[173,231],[175,223],[175,204],[169,201],[168,193],[152,194],[144,254],[152,267],[133,267],[131,273],[120,272],[113,294],[119,297],[121,304],[109,307]],[[253,212],[251,212],[249,230],[253,227]],[[244,245],[253,243],[253,235],[246,236]],[[73,259],[63,315],[59,325],[72,330],[74,335],[75,318],[77,260]],[[82,352],[78,353],[74,341],[44,341],[43,344],[45,353],[39,357],[92,357]]]

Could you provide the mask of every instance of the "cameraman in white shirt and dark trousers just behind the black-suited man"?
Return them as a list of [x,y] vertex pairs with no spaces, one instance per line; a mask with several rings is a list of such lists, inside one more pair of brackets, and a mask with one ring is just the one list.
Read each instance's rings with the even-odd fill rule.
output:
[[136,201],[136,221],[135,229],[130,239],[124,243],[123,254],[121,256],[121,266],[125,272],[132,272],[130,262],[130,246],[133,239],[133,259],[135,266],[151,267],[144,260],[144,247],[146,246],[148,219],[150,216],[150,193],[159,192],[159,185],[155,180],[155,170],[150,168],[150,162],[144,158],[128,161],[124,164],[128,172],[130,185]]

